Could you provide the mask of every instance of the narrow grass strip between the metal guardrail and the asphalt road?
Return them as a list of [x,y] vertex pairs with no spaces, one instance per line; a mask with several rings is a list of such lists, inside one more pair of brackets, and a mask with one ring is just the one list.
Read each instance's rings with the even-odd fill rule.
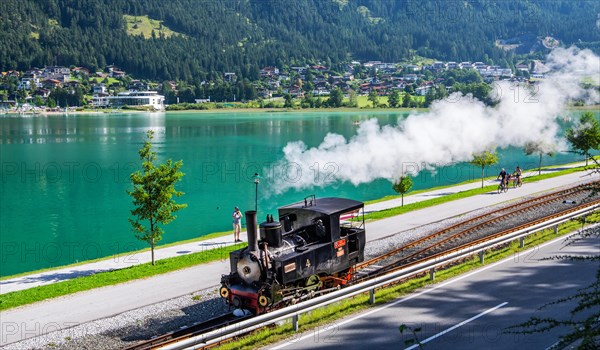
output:
[[[586,223],[588,224],[597,222],[600,222],[600,213],[589,215],[586,219]],[[443,270],[436,270],[434,281],[429,278],[428,273],[425,273],[424,276],[412,278],[395,286],[378,289],[375,294],[375,305],[391,302],[425,286],[449,280],[482,266],[493,264],[512,255],[519,257],[519,254],[522,254],[522,252],[527,249],[551,241],[559,236],[574,232],[578,229],[581,229],[581,223],[571,220],[559,225],[558,234],[554,233],[554,229],[547,229],[529,235],[526,238],[526,243],[523,248],[520,248],[518,241],[514,241],[502,248],[488,251],[485,255],[483,264],[479,262],[479,257],[473,256],[462,263],[452,265]],[[525,259],[526,257],[524,256],[522,258]],[[299,318],[298,333],[292,329],[290,322],[286,322],[277,327],[265,327],[264,329],[257,330],[248,336],[223,344],[217,349],[255,349],[267,347],[269,344],[293,338],[301,332],[318,329],[335,320],[369,309],[372,306],[373,305],[369,304],[369,293],[363,293],[353,298],[302,314]],[[398,326],[400,326],[400,324],[398,324]],[[323,334],[323,336],[325,337],[327,334]]]

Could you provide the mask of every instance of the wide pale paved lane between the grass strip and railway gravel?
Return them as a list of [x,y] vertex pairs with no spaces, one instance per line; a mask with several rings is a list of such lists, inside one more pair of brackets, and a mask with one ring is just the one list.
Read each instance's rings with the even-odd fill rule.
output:
[[[367,238],[368,240],[379,239],[488,205],[502,203],[507,200],[518,200],[520,196],[597,179],[597,175],[574,173],[539,182],[525,183],[523,187],[509,190],[503,194],[478,195],[394,218],[379,220],[367,225]],[[445,191],[453,192],[460,188],[461,186],[457,186],[456,188],[445,189]],[[428,195],[431,194],[424,193],[420,196],[426,197]],[[439,195],[436,194],[436,196]],[[120,314],[162,300],[191,294],[211,286],[215,286],[216,289],[221,274],[227,273],[228,268],[229,262],[223,260],[2,311],[0,312],[0,334],[2,335],[0,346]]]

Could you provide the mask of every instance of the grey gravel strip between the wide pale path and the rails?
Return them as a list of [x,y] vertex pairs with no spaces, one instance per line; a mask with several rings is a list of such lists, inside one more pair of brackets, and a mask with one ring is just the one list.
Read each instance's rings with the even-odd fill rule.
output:
[[[577,200],[579,202],[581,199]],[[466,219],[490,213],[498,210],[499,207],[510,205],[511,202],[507,202],[501,206],[472,211],[454,218],[402,231],[377,241],[368,242],[365,248],[365,260],[385,254],[410,241],[422,238]],[[535,214],[537,216],[537,212]],[[527,221],[532,218],[533,213],[524,215],[522,219],[523,221]],[[495,230],[497,229],[495,228]],[[180,327],[189,326],[195,322],[206,321],[226,313],[228,308],[219,297],[217,291],[218,286],[216,284],[218,280],[219,276],[216,276],[215,286],[190,295],[127,311],[117,316],[80,324],[69,329],[51,332],[36,338],[8,344],[2,347],[2,349],[112,350],[130,346],[138,341],[149,339],[152,336],[177,330]]]

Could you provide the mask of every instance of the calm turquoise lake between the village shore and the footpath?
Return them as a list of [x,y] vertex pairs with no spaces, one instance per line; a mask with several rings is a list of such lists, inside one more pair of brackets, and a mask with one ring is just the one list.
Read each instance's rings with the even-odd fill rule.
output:
[[[111,256],[146,247],[128,218],[129,174],[139,168],[137,151],[148,129],[155,131],[159,161],[183,160],[178,185],[188,207],[165,227],[161,243],[231,229],[234,206],[254,208],[254,173],[283,157],[283,147],[302,140],[319,145],[328,132],[352,137],[355,122],[377,118],[395,125],[405,113],[135,113],[0,118],[0,276]],[[537,166],[521,149],[499,151],[499,167]],[[544,157],[544,165],[581,160],[572,153]],[[272,178],[261,174],[259,221],[277,207],[308,195],[371,200],[395,194],[387,180],[354,186],[273,194]],[[320,174],[321,176],[323,174]],[[325,174],[326,175],[326,174]],[[480,169],[453,164],[423,171],[413,189],[478,179]],[[229,237],[227,237],[229,238]]]

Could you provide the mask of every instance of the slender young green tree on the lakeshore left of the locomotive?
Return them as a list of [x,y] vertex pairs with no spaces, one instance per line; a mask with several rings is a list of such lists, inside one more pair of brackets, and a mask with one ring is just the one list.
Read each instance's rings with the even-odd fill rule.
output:
[[[152,265],[154,265],[154,247],[162,239],[164,233],[159,224],[166,225],[176,219],[173,215],[187,204],[177,204],[173,196],[180,197],[183,192],[175,190],[175,184],[183,177],[179,171],[183,162],[173,163],[171,159],[159,166],[154,165],[156,152],[152,151],[154,131],[148,130],[148,139],[139,150],[143,171],[136,171],[130,175],[133,191],[127,193],[133,198],[135,209],[131,210],[129,222],[135,237],[150,245]],[[147,222],[146,225],[141,222]]]

